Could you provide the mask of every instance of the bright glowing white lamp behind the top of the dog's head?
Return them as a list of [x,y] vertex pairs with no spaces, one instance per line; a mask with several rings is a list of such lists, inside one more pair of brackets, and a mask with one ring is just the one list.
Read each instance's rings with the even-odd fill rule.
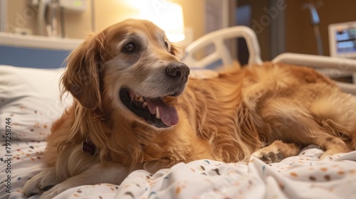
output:
[[184,18],[182,6],[164,0],[147,0],[142,2],[140,18],[155,23],[166,33],[169,41],[183,41]]

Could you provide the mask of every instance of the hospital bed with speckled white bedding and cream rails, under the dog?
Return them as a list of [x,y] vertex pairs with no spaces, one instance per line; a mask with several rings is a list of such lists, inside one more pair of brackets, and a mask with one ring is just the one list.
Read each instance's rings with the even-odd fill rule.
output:
[[[187,47],[184,62],[192,68],[199,68],[192,70],[193,75],[214,77],[214,70],[202,69],[216,63],[233,65],[229,47],[224,41],[236,37],[246,39],[250,55],[248,65],[261,64],[255,33],[241,26],[199,38]],[[71,47],[78,43],[72,43]],[[215,45],[215,52],[205,58],[195,58],[194,53],[207,45]],[[0,49],[3,46],[4,43],[0,43]],[[6,63],[0,66],[0,131],[3,135],[0,160],[4,161],[0,167],[1,199],[24,198],[21,195],[23,184],[44,167],[42,157],[51,122],[72,100],[67,97],[62,103],[59,99],[58,80],[63,72],[62,63],[46,62],[47,68],[57,69],[19,67],[26,66],[26,63],[31,65],[31,59],[24,61],[24,65]],[[316,55],[285,53],[272,62],[356,72],[355,60]],[[342,90],[355,93],[355,85],[339,85]],[[11,138],[6,136],[9,133],[6,122],[11,126]],[[8,148],[6,143],[9,143]],[[266,164],[256,158],[251,158],[248,165],[212,160],[178,163],[157,173],[134,171],[121,185],[72,188],[57,198],[356,198],[356,151],[320,161],[321,154],[323,150],[318,146],[307,146],[298,156],[285,158],[280,163]],[[38,195],[31,198],[38,198]]]

